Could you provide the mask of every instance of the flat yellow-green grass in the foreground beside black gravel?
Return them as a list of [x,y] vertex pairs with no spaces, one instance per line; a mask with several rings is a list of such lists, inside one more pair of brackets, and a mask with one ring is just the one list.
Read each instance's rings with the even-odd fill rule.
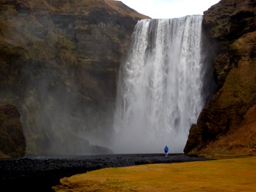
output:
[[256,157],[105,168],[61,179],[56,191],[256,191]]

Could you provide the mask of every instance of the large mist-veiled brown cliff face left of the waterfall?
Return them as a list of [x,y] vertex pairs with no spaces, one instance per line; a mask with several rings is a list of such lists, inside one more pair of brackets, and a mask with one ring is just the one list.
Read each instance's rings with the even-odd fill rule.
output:
[[19,109],[27,154],[110,152],[89,142],[111,140],[121,56],[145,18],[112,0],[1,1],[0,104]]

